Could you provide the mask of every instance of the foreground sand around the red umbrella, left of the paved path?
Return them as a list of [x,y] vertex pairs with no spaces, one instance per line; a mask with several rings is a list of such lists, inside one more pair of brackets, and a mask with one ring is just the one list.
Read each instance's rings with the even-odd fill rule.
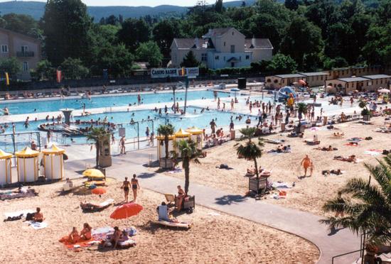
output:
[[[80,183],[75,181],[76,185]],[[156,205],[164,197],[147,189],[141,189],[137,201],[144,210],[130,219],[110,219],[114,207],[83,214],[79,207],[82,201],[102,202],[112,198],[122,202],[121,184],[112,180],[102,197],[89,191],[60,195],[62,185],[58,182],[37,186],[34,188],[38,197],[0,202],[2,217],[4,212],[41,207],[49,225],[36,231],[20,220],[1,221],[2,263],[315,263],[319,256],[318,249],[302,238],[223,213],[210,215],[217,212],[203,207],[196,207],[193,214],[179,216],[181,221],[193,222],[189,231],[161,228],[151,224],[151,220],[156,218]],[[75,252],[58,242],[73,226],[80,231],[84,222],[92,227],[135,226],[139,231],[134,237],[137,246],[127,250]]]

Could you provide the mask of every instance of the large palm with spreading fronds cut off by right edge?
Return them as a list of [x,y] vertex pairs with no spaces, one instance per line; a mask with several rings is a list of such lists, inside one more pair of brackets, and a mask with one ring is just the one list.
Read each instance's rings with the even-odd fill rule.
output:
[[[369,180],[349,180],[341,189],[341,194],[347,197],[337,197],[323,205],[326,212],[343,211],[347,216],[328,217],[322,223],[331,229],[342,226],[355,233],[367,231],[370,241],[375,243],[391,241],[391,155],[377,162],[377,166],[365,164]],[[371,177],[377,183],[371,183]]]

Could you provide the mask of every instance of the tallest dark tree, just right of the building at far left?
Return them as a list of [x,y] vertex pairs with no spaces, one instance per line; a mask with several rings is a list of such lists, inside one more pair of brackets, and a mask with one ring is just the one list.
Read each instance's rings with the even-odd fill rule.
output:
[[92,20],[80,0],[48,0],[42,18],[45,52],[57,67],[67,57],[90,57]]

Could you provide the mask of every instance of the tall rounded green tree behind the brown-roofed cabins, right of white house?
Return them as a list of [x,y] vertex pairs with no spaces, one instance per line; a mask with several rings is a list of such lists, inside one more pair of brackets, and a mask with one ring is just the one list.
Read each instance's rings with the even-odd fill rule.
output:
[[281,52],[290,55],[303,69],[306,56],[318,57],[323,50],[321,30],[306,18],[294,18],[289,25]]

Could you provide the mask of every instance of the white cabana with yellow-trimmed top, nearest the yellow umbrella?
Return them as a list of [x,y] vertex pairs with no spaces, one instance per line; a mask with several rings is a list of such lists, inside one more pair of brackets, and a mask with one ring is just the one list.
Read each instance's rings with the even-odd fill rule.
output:
[[63,180],[65,150],[52,145],[51,148],[42,150],[45,178],[50,180]]

